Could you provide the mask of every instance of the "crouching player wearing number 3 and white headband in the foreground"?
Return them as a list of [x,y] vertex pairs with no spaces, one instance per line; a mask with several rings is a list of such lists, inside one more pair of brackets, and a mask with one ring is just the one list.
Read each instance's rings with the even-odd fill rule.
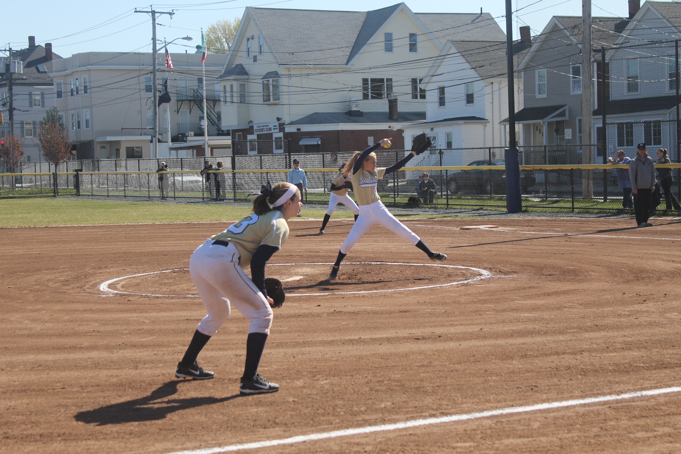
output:
[[[300,191],[293,184],[270,182],[253,200],[253,214],[199,246],[189,259],[189,273],[208,315],[199,323],[175,376],[205,380],[215,374],[196,361],[206,342],[229,318],[233,304],[249,321],[246,364],[240,380],[242,394],[273,393],[257,368],[272,326],[272,298],[265,287],[265,264],[289,236],[287,221],[300,211]],[[251,265],[251,277],[243,267]]]

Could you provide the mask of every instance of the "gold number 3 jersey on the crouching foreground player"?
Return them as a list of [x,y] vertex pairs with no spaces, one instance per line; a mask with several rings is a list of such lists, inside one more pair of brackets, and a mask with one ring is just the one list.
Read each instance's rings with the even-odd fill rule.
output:
[[272,210],[258,216],[249,214],[236,224],[210,237],[211,240],[222,240],[233,243],[239,251],[239,265],[251,265],[251,258],[258,246],[268,244],[281,249],[289,238],[289,225],[281,211]]

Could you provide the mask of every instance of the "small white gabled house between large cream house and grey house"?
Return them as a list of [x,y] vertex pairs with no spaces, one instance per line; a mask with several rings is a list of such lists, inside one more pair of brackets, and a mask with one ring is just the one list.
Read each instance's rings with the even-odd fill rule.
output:
[[[516,59],[526,48],[514,46]],[[507,146],[507,125],[499,124],[508,116],[506,42],[448,41],[428,69],[423,86],[426,122],[401,127],[409,140],[428,133],[432,148],[469,149],[445,152],[443,165],[466,165],[479,159],[481,152],[474,148]],[[520,78],[513,89],[519,93]],[[520,94],[518,107],[522,108]],[[491,158],[503,159],[501,151],[492,150]],[[490,157],[487,151],[482,155]],[[439,155],[433,151],[419,162],[433,165],[436,161]]]

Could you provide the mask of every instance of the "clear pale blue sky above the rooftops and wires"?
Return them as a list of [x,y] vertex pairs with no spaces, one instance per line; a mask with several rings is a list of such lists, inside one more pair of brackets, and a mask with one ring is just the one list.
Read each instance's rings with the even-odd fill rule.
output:
[[[168,0],[165,0],[168,1]],[[160,39],[168,41],[190,35],[193,42],[178,42],[171,46],[172,52],[193,52],[193,46],[201,43],[201,27],[206,29],[215,20],[241,17],[246,6],[281,8],[320,9],[319,1],[311,0],[232,0],[206,1],[206,3],[164,3],[155,4],[155,10],[175,10],[172,20],[161,16],[157,20]],[[398,3],[396,0],[346,0],[338,9],[366,11],[376,10]],[[479,12],[480,7],[489,12],[505,30],[505,3],[501,0],[480,0],[476,2],[453,2],[443,0],[421,0],[405,2],[414,12]],[[643,3],[643,2],[642,2]],[[340,3],[335,3],[340,6]],[[328,5],[328,3],[325,3]],[[533,34],[539,33],[552,15],[581,16],[581,1],[575,0],[513,0],[514,33],[520,25],[529,25]],[[7,2],[3,5],[3,25],[0,28],[0,46],[7,43],[15,49],[28,46],[29,35],[35,35],[38,44],[52,42],[54,52],[70,56],[78,52],[151,50],[151,18],[147,14],[134,14],[134,8],[148,9],[149,5],[130,0],[79,2],[55,2],[54,0],[33,0],[30,8],[21,2]],[[627,16],[626,0],[597,0],[593,3],[594,16]],[[11,19],[16,18],[16,19]],[[101,25],[103,22],[104,25]],[[79,33],[82,32],[82,33]],[[189,44],[189,47],[180,44]]]

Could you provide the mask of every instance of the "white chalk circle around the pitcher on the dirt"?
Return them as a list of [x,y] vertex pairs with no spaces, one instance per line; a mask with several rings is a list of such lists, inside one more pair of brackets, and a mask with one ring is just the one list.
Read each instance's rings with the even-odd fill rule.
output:
[[[409,265],[409,266],[437,266],[441,268],[459,268],[460,270],[473,270],[479,272],[480,276],[475,276],[475,278],[470,278],[466,280],[459,280],[457,282],[448,282],[447,284],[437,284],[437,285],[423,285],[421,287],[409,287],[406,289],[387,289],[387,290],[364,290],[364,291],[336,291],[327,293],[287,293],[286,296],[321,296],[321,295],[350,295],[352,293],[380,293],[387,291],[405,291],[405,290],[420,290],[420,289],[434,289],[436,287],[449,287],[450,285],[460,285],[460,284],[470,284],[471,282],[476,282],[477,280],[487,279],[492,277],[492,273],[487,270],[482,270],[481,268],[473,268],[470,266],[457,266],[457,265],[443,265],[441,263],[394,263],[385,261],[355,261],[347,262],[346,265]],[[268,266],[285,266],[285,265],[333,265],[332,262],[323,263],[268,263]],[[121,278],[109,279],[106,282],[102,282],[99,285],[99,291],[106,293],[119,293],[121,295],[141,295],[141,296],[162,296],[162,297],[178,297],[178,298],[195,298],[199,295],[157,295],[155,293],[135,293],[131,291],[118,291],[109,288],[109,285],[117,282],[118,280],[123,280],[127,278],[135,278],[138,276],[148,276],[149,274],[160,274],[160,273],[170,273],[172,271],[186,271],[189,268],[175,268],[173,270],[165,271],[152,271],[148,273],[131,274],[130,276],[123,276]]]

